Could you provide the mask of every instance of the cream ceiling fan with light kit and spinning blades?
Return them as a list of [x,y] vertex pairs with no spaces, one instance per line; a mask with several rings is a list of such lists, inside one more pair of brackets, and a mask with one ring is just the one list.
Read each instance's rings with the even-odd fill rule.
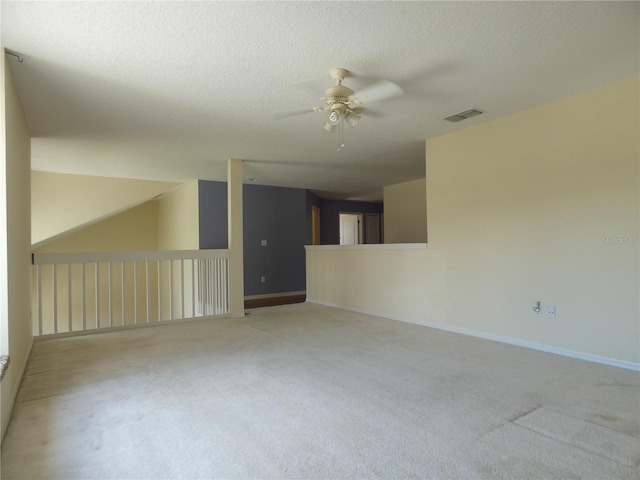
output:
[[339,142],[338,150],[344,147],[343,125],[346,122],[351,127],[355,127],[360,121],[365,104],[379,102],[403,95],[404,92],[399,85],[389,80],[378,80],[372,85],[363,88],[357,94],[349,87],[342,84],[345,77],[349,76],[349,71],[345,68],[332,68],[329,75],[336,84],[324,92],[322,101],[325,105],[312,109],[298,110],[277,115],[277,118],[289,117],[308,112],[324,112],[325,130],[332,132],[338,128]]

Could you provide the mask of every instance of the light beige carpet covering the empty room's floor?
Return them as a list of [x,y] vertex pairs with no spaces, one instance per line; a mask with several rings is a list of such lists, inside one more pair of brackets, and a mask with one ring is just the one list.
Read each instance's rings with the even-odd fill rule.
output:
[[637,372],[312,304],[37,342],[2,477],[640,477]]

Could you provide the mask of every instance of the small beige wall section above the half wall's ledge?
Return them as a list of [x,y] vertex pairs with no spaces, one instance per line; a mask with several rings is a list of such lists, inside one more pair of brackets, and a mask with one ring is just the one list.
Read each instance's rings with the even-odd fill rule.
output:
[[384,187],[384,243],[427,241],[426,199],[424,178]]

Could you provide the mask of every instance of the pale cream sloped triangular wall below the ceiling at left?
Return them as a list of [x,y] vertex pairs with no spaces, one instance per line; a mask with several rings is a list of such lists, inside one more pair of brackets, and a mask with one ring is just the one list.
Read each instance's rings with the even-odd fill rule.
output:
[[32,172],[34,247],[140,205],[178,186],[173,182]]

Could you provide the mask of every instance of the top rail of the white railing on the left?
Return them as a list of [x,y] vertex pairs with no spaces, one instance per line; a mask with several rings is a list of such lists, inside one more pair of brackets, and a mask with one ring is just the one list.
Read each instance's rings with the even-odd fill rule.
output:
[[228,258],[229,250],[157,250],[147,252],[80,252],[40,253],[33,255],[34,265],[144,262],[156,260],[187,260],[204,258]]

